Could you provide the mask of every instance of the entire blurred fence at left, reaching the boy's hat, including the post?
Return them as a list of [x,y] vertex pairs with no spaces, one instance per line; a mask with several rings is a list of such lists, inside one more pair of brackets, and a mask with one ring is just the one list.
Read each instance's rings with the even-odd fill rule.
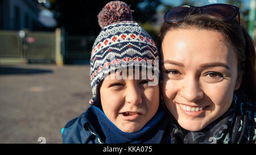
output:
[[0,64],[89,64],[96,37],[55,32],[0,31]]

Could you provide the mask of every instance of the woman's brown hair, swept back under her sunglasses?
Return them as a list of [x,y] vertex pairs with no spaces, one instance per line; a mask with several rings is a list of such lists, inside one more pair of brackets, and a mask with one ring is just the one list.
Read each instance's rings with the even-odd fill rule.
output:
[[[255,80],[255,48],[251,37],[236,19],[231,22],[222,22],[213,16],[204,14],[189,15],[188,18],[177,24],[163,23],[158,35],[157,46],[162,52],[162,41],[168,31],[177,28],[199,28],[220,32],[226,45],[232,47],[238,59],[238,72],[243,74],[242,83],[236,93],[246,94],[253,102],[256,100]],[[161,57],[160,57],[161,59]]]

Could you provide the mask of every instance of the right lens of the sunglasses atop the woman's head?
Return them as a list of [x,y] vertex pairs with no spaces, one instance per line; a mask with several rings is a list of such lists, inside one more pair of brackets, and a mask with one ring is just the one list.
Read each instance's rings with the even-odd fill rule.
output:
[[236,17],[238,10],[232,6],[210,6],[203,9],[203,14],[208,14],[225,21]]

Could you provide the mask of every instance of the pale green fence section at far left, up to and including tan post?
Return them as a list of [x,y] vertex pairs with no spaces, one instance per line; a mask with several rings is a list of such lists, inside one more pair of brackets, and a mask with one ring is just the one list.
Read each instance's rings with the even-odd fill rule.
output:
[[62,65],[61,32],[0,31],[0,64]]

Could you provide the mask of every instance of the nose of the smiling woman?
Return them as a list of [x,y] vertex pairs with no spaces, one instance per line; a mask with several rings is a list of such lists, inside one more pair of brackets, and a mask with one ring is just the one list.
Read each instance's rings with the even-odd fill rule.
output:
[[192,77],[185,79],[183,87],[181,87],[181,95],[189,102],[203,98],[204,93],[201,90],[199,80]]

